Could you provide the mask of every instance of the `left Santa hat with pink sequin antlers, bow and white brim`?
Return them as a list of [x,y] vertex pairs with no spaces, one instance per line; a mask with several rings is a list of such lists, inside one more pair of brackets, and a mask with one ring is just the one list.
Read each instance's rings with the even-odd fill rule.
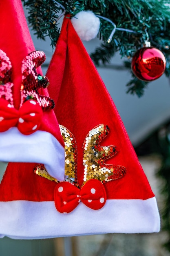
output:
[[[64,142],[20,0],[0,1],[0,161],[40,162],[64,178]],[[56,166],[58,166],[56,170]]]

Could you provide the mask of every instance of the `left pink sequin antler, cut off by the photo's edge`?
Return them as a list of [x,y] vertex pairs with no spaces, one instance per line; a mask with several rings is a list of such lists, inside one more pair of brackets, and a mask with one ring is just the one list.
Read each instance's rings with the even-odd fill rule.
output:
[[7,54],[0,50],[0,98],[6,99],[11,107],[13,107],[11,70],[11,61],[7,57]]

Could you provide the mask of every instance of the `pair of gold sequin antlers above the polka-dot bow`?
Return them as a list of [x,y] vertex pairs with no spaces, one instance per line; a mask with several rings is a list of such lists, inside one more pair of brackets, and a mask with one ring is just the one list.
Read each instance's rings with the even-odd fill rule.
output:
[[[72,133],[64,126],[60,125],[60,132],[65,144],[65,181],[78,186],[77,182],[77,148],[76,141]],[[108,126],[101,124],[93,128],[84,141],[84,183],[91,179],[99,180],[102,183],[116,180],[126,174],[126,168],[121,165],[105,164],[106,159],[117,154],[116,146],[100,146],[99,143],[107,136]],[[43,165],[36,166],[34,172],[49,180],[51,177]]]

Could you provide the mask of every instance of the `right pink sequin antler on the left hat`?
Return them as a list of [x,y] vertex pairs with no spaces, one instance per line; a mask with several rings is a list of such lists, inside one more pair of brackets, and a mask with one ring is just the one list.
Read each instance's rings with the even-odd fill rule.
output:
[[44,111],[54,108],[54,101],[50,97],[40,95],[38,92],[38,89],[49,86],[49,79],[36,72],[36,68],[42,65],[45,59],[44,52],[34,51],[22,61],[21,106],[24,101],[34,99],[38,101]]

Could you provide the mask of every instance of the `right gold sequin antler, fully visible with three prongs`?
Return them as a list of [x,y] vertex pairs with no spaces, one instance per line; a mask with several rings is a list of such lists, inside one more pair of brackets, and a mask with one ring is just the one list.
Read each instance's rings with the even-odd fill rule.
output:
[[117,154],[116,146],[99,145],[108,132],[108,126],[101,124],[93,128],[84,141],[84,183],[90,179],[97,179],[105,183],[119,179],[126,174],[124,166],[105,164],[106,159]]

